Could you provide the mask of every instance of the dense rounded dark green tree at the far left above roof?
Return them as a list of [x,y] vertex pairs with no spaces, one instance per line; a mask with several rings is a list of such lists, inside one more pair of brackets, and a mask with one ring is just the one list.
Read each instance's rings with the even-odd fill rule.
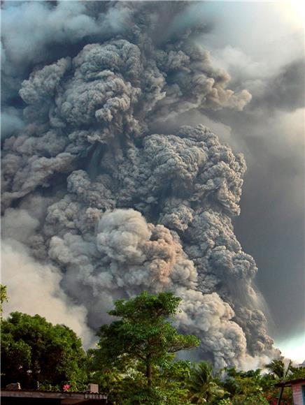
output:
[[85,352],[65,325],[52,325],[39,315],[13,312],[1,321],[1,383],[22,388],[85,382]]

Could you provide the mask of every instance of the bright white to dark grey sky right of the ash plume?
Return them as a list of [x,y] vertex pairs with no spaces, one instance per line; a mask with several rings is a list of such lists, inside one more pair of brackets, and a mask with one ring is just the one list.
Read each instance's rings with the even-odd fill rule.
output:
[[[248,172],[235,232],[256,260],[257,286],[282,350],[305,353],[304,3],[209,2],[211,55],[253,100],[242,114],[216,112]],[[198,39],[200,40],[200,39]],[[206,40],[206,38],[205,38]],[[220,131],[218,131],[220,133]]]

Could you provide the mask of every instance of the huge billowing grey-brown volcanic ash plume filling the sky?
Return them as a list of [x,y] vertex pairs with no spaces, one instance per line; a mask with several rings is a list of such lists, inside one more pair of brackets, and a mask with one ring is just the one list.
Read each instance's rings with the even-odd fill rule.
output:
[[23,34],[34,25],[29,39],[3,37],[3,282],[15,309],[29,311],[22,284],[33,311],[48,300],[83,337],[118,298],[171,290],[199,357],[243,365],[274,355],[257,267],[232,227],[243,156],[201,125],[151,129],[251,98],[227,89],[229,75],[196,44],[207,27],[179,24],[187,7],[4,3],[4,29],[17,15]]

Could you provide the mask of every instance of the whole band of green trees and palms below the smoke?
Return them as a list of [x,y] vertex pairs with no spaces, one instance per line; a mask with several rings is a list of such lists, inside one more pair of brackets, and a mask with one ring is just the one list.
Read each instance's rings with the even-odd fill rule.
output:
[[[1,303],[6,300],[3,287]],[[305,378],[305,367],[282,360],[266,364],[264,373],[234,367],[215,372],[210,362],[176,360],[176,352],[199,344],[171,324],[179,303],[172,293],[117,301],[109,312],[116,319],[101,326],[97,348],[87,354],[69,327],[14,312],[1,319],[1,384],[84,390],[88,382],[98,383],[109,403],[117,405],[274,405],[276,383]],[[290,388],[285,388],[281,404],[291,403]]]

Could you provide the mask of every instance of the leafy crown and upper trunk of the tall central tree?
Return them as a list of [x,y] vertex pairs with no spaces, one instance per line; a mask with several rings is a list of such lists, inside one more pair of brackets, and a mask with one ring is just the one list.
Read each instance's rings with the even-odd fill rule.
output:
[[172,293],[141,293],[128,301],[118,300],[109,312],[120,317],[99,330],[97,358],[113,365],[137,361],[145,365],[147,385],[152,385],[152,367],[168,353],[194,348],[199,339],[178,334],[169,319],[178,311],[180,298]]

